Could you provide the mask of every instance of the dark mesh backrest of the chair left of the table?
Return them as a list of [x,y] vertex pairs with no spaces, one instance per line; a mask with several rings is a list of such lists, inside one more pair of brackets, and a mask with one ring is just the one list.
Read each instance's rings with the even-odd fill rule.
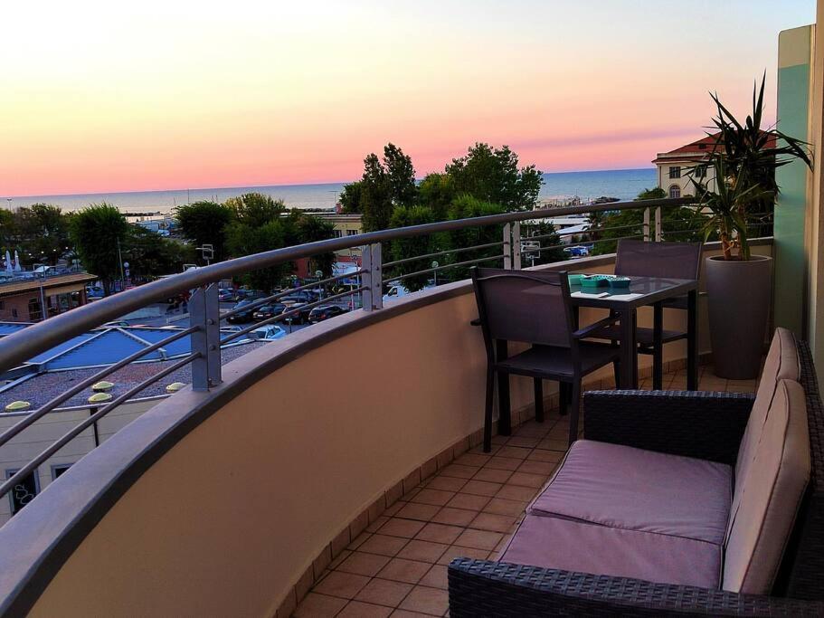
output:
[[472,283],[488,345],[505,339],[572,347],[566,272],[473,268]]

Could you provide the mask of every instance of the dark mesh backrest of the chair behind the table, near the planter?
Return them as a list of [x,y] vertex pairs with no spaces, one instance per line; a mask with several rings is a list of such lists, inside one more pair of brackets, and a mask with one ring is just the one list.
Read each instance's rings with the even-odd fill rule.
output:
[[623,277],[698,279],[700,242],[618,241],[615,274]]

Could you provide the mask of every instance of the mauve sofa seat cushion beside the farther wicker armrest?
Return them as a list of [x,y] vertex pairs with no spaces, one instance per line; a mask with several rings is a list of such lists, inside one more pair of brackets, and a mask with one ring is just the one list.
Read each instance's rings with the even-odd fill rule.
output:
[[580,440],[527,512],[720,546],[731,495],[723,463]]

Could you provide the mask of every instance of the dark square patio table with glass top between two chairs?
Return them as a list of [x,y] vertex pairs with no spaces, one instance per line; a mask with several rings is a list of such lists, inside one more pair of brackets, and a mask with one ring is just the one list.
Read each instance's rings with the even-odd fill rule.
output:
[[698,388],[698,281],[663,277],[630,277],[629,288],[585,288],[570,285],[573,307],[610,309],[620,318],[621,388],[638,388],[638,353],[635,341],[639,307],[653,308],[655,343],[664,329],[663,302],[687,296],[687,390]]

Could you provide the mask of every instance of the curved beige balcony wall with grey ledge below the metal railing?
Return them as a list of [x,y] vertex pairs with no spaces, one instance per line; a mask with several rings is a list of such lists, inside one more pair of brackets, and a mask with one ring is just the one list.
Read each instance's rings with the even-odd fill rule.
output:
[[[670,313],[665,326],[679,326]],[[427,290],[261,347],[225,366],[223,385],[157,404],[0,529],[2,609],[289,613],[370,518],[477,443],[486,359],[476,317],[468,282]],[[685,355],[665,349],[672,363]],[[609,374],[596,379],[609,385]],[[512,396],[528,416],[530,382],[513,378]]]

